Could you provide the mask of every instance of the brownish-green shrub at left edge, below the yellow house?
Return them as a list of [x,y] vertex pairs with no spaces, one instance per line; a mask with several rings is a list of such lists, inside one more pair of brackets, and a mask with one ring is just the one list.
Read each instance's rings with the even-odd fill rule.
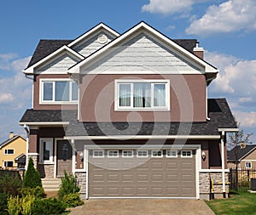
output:
[[0,178],[0,193],[8,195],[18,195],[22,186],[22,180],[18,175],[10,176],[8,173]]

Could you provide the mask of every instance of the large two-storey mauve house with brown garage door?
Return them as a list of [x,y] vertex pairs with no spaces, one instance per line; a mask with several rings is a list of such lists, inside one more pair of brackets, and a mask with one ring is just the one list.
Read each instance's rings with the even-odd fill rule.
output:
[[207,99],[218,70],[195,39],[101,23],[41,40],[24,73],[33,105],[20,125],[42,178],[74,173],[87,199],[204,199],[210,178],[215,196],[229,192],[225,139],[238,129],[225,99]]

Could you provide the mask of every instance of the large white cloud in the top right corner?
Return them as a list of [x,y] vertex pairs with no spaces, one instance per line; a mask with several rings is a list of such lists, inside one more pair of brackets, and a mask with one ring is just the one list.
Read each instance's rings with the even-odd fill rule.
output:
[[201,19],[193,20],[187,34],[208,36],[220,32],[256,30],[256,1],[229,0],[212,5]]

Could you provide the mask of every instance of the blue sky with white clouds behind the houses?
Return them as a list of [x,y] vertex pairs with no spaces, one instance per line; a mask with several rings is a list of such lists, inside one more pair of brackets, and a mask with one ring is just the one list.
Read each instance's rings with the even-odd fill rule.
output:
[[32,103],[22,74],[40,39],[74,39],[104,22],[123,33],[144,20],[167,37],[196,38],[220,70],[209,97],[225,97],[256,143],[255,0],[9,0],[0,3],[0,141],[24,135]]

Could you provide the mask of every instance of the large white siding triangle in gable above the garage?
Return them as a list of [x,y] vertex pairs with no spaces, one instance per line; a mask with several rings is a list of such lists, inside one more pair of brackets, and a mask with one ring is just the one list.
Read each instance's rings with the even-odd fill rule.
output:
[[[181,55],[181,54],[180,54]],[[140,34],[90,66],[86,71],[202,71],[159,42]]]

